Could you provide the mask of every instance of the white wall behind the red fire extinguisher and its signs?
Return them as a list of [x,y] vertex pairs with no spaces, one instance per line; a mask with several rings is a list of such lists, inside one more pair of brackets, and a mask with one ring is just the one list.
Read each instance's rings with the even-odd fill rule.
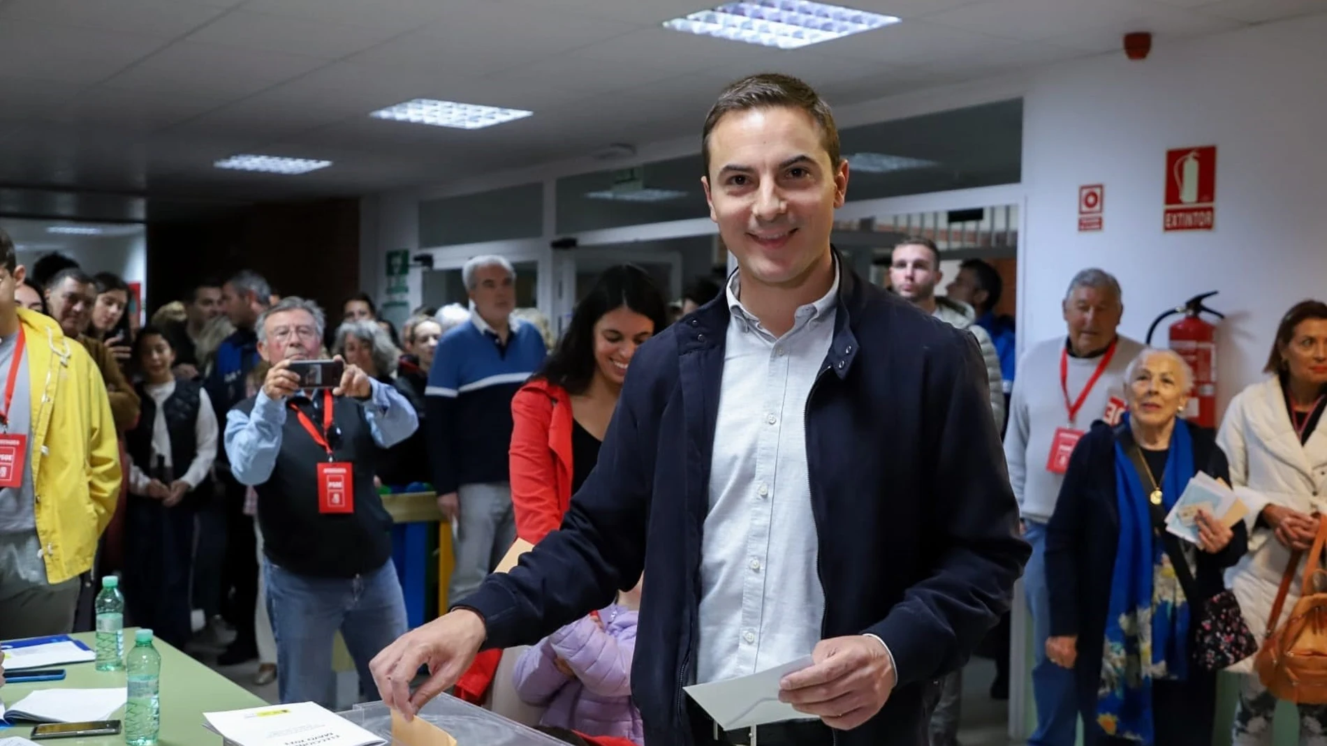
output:
[[[1027,235],[1019,254],[1020,343],[1064,333],[1059,299],[1101,266],[1124,288],[1137,339],[1201,292],[1229,314],[1218,335],[1218,412],[1259,378],[1277,322],[1327,297],[1327,16],[1160,44],[1152,57],[1047,69],[1024,99]],[[1216,144],[1212,232],[1161,231],[1165,151]],[[1078,188],[1105,184],[1105,229],[1078,232]],[[1172,319],[1173,321],[1173,319]],[[1164,322],[1153,339],[1164,345]]]

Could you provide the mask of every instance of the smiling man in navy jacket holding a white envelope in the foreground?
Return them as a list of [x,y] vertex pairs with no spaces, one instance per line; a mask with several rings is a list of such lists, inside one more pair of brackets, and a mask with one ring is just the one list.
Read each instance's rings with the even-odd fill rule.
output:
[[[535,643],[644,571],[649,746],[921,746],[934,681],[1009,608],[1028,547],[981,354],[829,245],[848,164],[828,106],[756,76],[702,142],[739,270],[637,352],[561,530],[374,659],[406,717],[482,647]],[[808,653],[780,685],[804,721],[721,733],[682,692]]]

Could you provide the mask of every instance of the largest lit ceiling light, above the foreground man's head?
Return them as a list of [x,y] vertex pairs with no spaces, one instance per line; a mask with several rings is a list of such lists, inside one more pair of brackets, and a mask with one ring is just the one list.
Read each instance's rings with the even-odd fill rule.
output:
[[747,0],[664,21],[664,28],[798,49],[897,23],[894,16],[809,0]]

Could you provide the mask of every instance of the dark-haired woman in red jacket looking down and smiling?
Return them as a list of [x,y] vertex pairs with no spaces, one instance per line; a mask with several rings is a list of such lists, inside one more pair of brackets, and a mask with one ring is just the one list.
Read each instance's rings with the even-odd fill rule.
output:
[[576,305],[544,367],[511,400],[516,535],[537,543],[561,526],[594,461],[636,348],[666,325],[667,302],[636,265],[604,270]]

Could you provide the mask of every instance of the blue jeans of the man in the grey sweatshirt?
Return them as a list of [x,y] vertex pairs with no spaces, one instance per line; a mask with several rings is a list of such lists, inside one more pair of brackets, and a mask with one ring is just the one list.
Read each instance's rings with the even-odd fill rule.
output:
[[1078,692],[1074,670],[1046,657],[1051,636],[1051,594],[1046,586],[1046,523],[1027,521],[1023,534],[1032,545],[1032,557],[1023,568],[1023,591],[1032,615],[1032,700],[1036,702],[1036,731],[1027,746],[1074,746],[1078,738]]

